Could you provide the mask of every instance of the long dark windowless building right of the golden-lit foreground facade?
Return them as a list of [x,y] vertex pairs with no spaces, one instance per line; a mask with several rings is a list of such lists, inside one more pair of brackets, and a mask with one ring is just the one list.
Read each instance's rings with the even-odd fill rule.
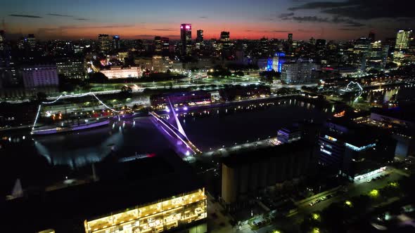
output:
[[221,201],[229,211],[283,182],[312,175],[317,164],[314,145],[302,140],[229,153],[221,161]]

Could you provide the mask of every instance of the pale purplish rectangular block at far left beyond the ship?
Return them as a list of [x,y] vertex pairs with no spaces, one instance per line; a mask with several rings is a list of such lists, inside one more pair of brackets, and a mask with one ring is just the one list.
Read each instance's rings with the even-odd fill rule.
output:
[[58,86],[56,65],[28,65],[20,70],[25,88]]

